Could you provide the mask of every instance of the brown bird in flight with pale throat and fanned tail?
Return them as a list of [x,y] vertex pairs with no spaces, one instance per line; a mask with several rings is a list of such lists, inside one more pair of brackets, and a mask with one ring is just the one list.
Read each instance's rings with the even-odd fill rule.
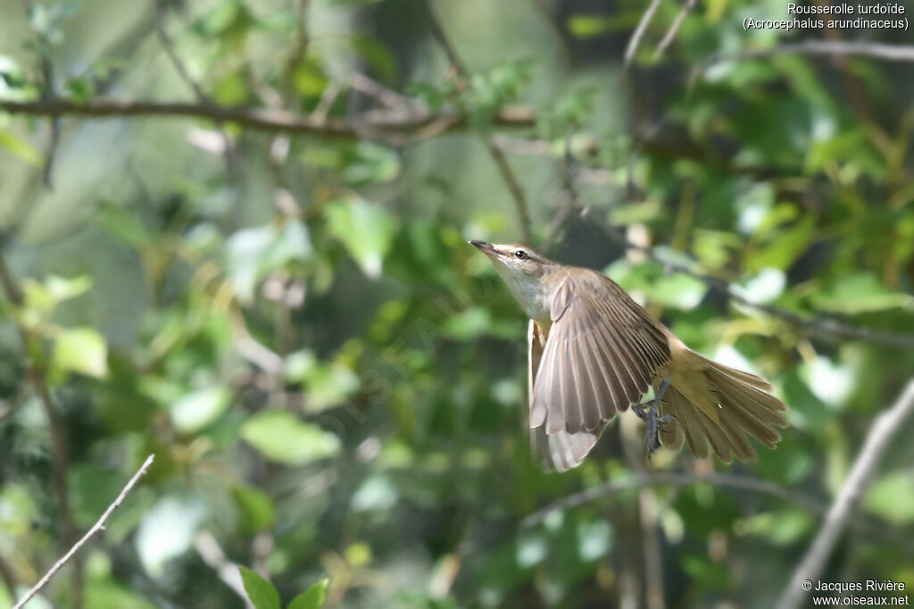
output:
[[[486,254],[530,317],[530,442],[549,470],[580,465],[616,411],[632,406],[659,443],[729,463],[769,448],[787,407],[771,385],[703,358],[600,272],[547,260],[523,245],[470,244]],[[638,403],[648,388],[653,401]],[[644,407],[647,406],[645,409]]]

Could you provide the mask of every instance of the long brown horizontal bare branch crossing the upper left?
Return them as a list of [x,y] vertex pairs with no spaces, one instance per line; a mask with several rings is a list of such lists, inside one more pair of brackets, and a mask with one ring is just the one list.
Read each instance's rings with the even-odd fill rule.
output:
[[[98,98],[86,103],[52,99],[34,102],[0,102],[0,111],[29,116],[69,115],[96,119],[122,119],[141,116],[174,116],[238,123],[260,131],[287,134],[314,135],[327,139],[357,139],[364,137],[377,142],[404,145],[429,139],[438,134],[460,131],[467,127],[466,120],[457,112],[427,113],[417,116],[399,116],[373,112],[371,119],[348,120],[327,118],[318,123],[312,117],[283,110],[224,107],[195,102],[146,102],[140,100],[115,100]],[[537,112],[524,105],[505,105],[494,112],[494,125],[499,127],[532,127],[537,123]],[[443,124],[441,130],[422,134],[432,124]]]

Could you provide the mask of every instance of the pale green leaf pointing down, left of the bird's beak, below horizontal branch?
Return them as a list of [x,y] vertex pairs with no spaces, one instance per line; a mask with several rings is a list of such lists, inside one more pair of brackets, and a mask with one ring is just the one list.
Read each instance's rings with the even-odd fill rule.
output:
[[330,203],[327,220],[331,234],[343,242],[362,271],[377,279],[397,233],[397,225],[387,210],[363,198],[350,198]]

